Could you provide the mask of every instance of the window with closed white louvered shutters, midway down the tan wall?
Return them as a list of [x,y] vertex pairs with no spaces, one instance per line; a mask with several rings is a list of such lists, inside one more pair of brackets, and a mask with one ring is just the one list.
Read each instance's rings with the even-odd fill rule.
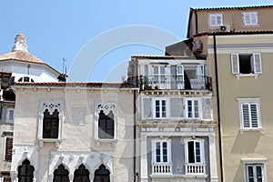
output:
[[258,100],[241,100],[239,101],[239,109],[241,129],[261,128],[260,106]]

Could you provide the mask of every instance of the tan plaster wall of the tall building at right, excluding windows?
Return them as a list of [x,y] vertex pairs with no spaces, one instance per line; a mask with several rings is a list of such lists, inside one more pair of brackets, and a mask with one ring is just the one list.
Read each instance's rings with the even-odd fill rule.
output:
[[[216,35],[217,76],[224,181],[244,181],[245,161],[265,161],[265,181],[273,181],[272,71],[273,35]],[[262,73],[236,76],[231,53],[260,53]],[[208,36],[208,56],[215,69],[213,35]],[[216,82],[213,82],[216,86]],[[215,88],[214,86],[214,88]],[[242,131],[238,98],[259,98],[261,130]],[[217,105],[214,106],[217,109]],[[214,112],[215,114],[217,112]],[[253,163],[253,162],[252,162]]]

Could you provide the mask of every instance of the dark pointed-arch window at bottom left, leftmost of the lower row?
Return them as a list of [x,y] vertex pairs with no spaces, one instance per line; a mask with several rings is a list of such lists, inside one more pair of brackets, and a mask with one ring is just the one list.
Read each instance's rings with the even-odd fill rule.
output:
[[35,167],[30,165],[29,160],[25,159],[21,166],[18,167],[18,181],[32,182],[34,177]]

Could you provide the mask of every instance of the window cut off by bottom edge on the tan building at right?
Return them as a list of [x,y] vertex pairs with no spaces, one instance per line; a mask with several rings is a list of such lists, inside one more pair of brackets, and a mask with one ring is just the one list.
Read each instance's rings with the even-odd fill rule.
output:
[[247,182],[264,182],[264,167],[263,164],[248,164],[246,165]]

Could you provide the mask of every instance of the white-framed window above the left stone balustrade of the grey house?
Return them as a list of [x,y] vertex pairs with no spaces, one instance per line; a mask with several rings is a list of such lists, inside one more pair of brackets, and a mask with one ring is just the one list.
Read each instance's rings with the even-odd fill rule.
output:
[[168,162],[168,144],[167,141],[157,141],[155,157],[156,163],[167,163]]

